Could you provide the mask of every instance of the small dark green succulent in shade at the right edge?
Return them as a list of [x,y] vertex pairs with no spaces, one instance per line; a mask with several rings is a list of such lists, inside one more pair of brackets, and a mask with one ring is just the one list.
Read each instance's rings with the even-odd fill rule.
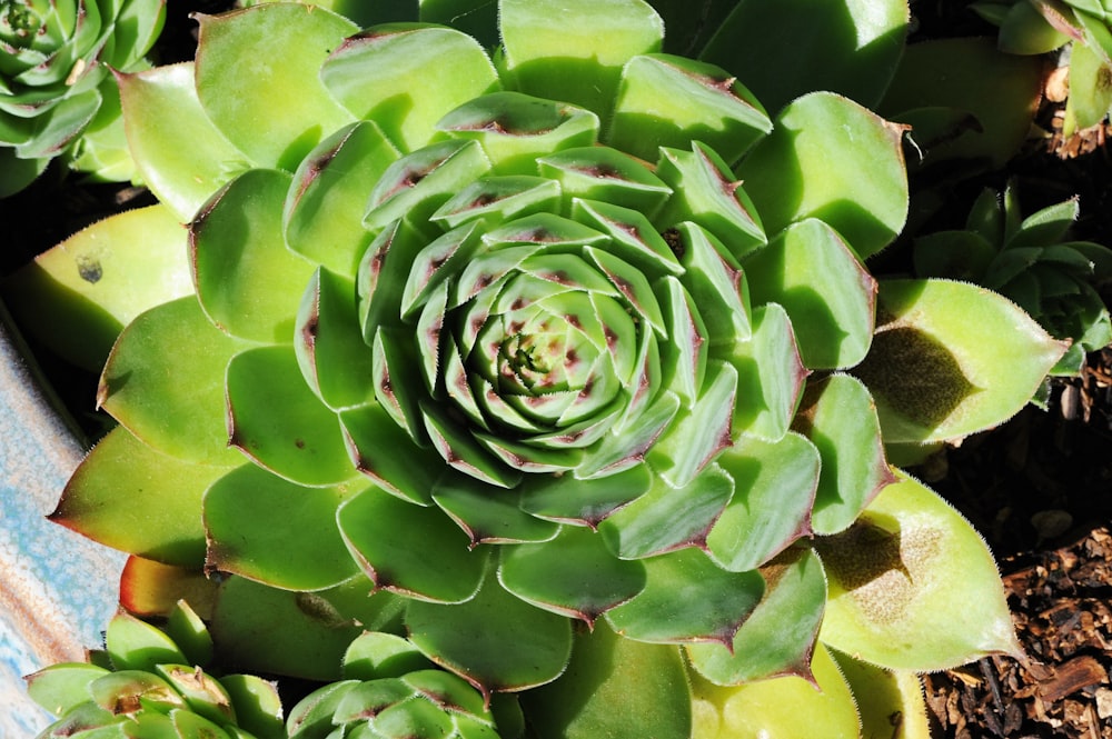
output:
[[1051,375],[1076,375],[1086,352],[1112,341],[1100,292],[1112,280],[1112,251],[1070,238],[1079,208],[1072,198],[1023,218],[1014,183],[1002,197],[986,189],[965,230],[915,240],[915,270],[975,282],[1013,300],[1052,336],[1071,340]]

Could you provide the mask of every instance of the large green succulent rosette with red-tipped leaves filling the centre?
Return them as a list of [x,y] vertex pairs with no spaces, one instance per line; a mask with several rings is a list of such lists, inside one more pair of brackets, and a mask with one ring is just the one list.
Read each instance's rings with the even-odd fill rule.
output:
[[78,361],[115,340],[120,426],[53,518],[133,555],[132,609],[200,593],[237,669],[334,681],[404,631],[542,737],[856,732],[841,655],[1014,651],[983,541],[884,446],[1003,421],[1065,347],[870,274],[903,127],[770,117],[639,0],[498,10],[490,52],[267,3],[120,78],[160,203],[10,292]]

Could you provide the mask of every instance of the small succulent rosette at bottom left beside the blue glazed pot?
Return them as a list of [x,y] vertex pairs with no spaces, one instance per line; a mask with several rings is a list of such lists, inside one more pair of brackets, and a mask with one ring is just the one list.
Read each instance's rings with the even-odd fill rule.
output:
[[121,612],[88,662],[28,676],[31,698],[59,717],[39,737],[284,737],[275,687],[247,675],[216,678],[202,669],[211,658],[212,640],[185,601],[166,631]]

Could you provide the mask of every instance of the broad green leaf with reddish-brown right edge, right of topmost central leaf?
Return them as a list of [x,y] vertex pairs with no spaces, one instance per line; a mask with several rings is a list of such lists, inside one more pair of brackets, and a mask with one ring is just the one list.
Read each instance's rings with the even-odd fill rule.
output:
[[622,70],[606,143],[646,161],[659,147],[698,140],[726,161],[772,130],[759,101],[729,72],[672,54],[634,57]]

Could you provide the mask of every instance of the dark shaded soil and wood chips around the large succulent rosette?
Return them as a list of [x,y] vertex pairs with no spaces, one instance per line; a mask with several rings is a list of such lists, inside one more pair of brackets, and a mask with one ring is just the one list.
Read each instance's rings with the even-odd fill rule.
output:
[[[169,0],[162,61],[187,59],[190,11],[218,12],[227,0]],[[990,33],[967,2],[913,2],[920,33]],[[1023,180],[1032,209],[1078,194],[1078,237],[1112,244],[1112,167],[1106,131],[1086,141],[1053,138],[1055,107],[1039,123],[1045,143],[1006,173],[963,183]],[[955,199],[964,220],[971,198]],[[121,209],[151,202],[142,188],[89,184],[52,167],[24,192],[0,200],[6,224],[0,277],[80,228]],[[887,267],[887,264],[886,264]],[[32,347],[33,349],[33,347]],[[88,408],[96,378],[42,356],[43,369],[70,408]],[[82,416],[96,437],[102,420]],[[1082,377],[1055,382],[1048,410],[1027,407],[1001,428],[966,439],[911,470],[983,533],[996,556],[1023,659],[991,657],[925,677],[939,738],[1112,739],[1112,348],[1089,358]]]

